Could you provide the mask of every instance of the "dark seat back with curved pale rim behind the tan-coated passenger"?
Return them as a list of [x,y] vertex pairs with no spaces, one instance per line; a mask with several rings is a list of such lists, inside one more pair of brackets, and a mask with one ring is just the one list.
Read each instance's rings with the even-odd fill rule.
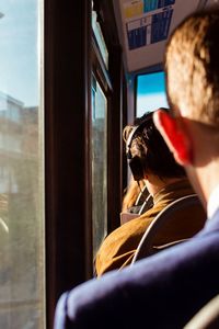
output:
[[[195,212],[196,216],[200,217],[200,223],[203,223],[204,225],[206,219],[206,213],[196,194],[183,196],[172,202],[163,211],[161,211],[152,220],[152,223],[149,225],[145,235],[142,236],[131,263],[135,263],[137,260],[141,258],[157,253],[160,250],[172,247],[173,245],[185,241],[187,238],[169,241],[168,243],[163,243],[157,247],[154,246],[155,239],[159,236],[159,234],[161,231],[164,231],[166,228],[170,228],[173,225],[174,226],[178,225],[178,230],[180,230],[180,224],[182,220],[186,220],[187,222],[186,225],[189,225],[191,222],[192,225],[193,218],[189,218],[191,212],[193,213]],[[197,231],[194,230],[194,234]]]

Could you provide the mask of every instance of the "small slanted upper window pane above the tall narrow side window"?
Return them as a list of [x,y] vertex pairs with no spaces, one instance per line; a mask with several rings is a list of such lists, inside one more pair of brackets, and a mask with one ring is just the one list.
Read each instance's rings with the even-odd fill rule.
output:
[[106,44],[101,31],[101,26],[99,24],[99,22],[96,21],[96,12],[94,10],[92,10],[92,29],[94,32],[94,36],[96,39],[96,43],[99,45],[99,49],[101,52],[101,55],[103,57],[103,60],[105,63],[106,68],[108,68],[108,50],[106,48]]

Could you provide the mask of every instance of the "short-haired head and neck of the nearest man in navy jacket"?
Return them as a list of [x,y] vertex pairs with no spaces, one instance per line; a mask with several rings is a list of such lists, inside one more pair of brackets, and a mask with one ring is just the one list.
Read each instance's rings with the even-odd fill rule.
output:
[[206,205],[219,183],[219,10],[196,12],[166,46],[166,91],[172,115],[154,123]]

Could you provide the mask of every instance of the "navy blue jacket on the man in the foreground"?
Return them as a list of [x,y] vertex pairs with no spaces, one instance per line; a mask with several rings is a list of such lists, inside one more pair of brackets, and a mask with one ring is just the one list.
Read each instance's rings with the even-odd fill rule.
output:
[[219,293],[219,211],[189,241],[65,293],[55,329],[183,326]]

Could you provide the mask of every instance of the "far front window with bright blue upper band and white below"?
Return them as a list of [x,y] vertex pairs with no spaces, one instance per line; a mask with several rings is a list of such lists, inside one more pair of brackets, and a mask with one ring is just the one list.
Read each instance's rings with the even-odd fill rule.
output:
[[169,107],[165,95],[164,72],[151,72],[137,77],[136,116],[158,107]]

